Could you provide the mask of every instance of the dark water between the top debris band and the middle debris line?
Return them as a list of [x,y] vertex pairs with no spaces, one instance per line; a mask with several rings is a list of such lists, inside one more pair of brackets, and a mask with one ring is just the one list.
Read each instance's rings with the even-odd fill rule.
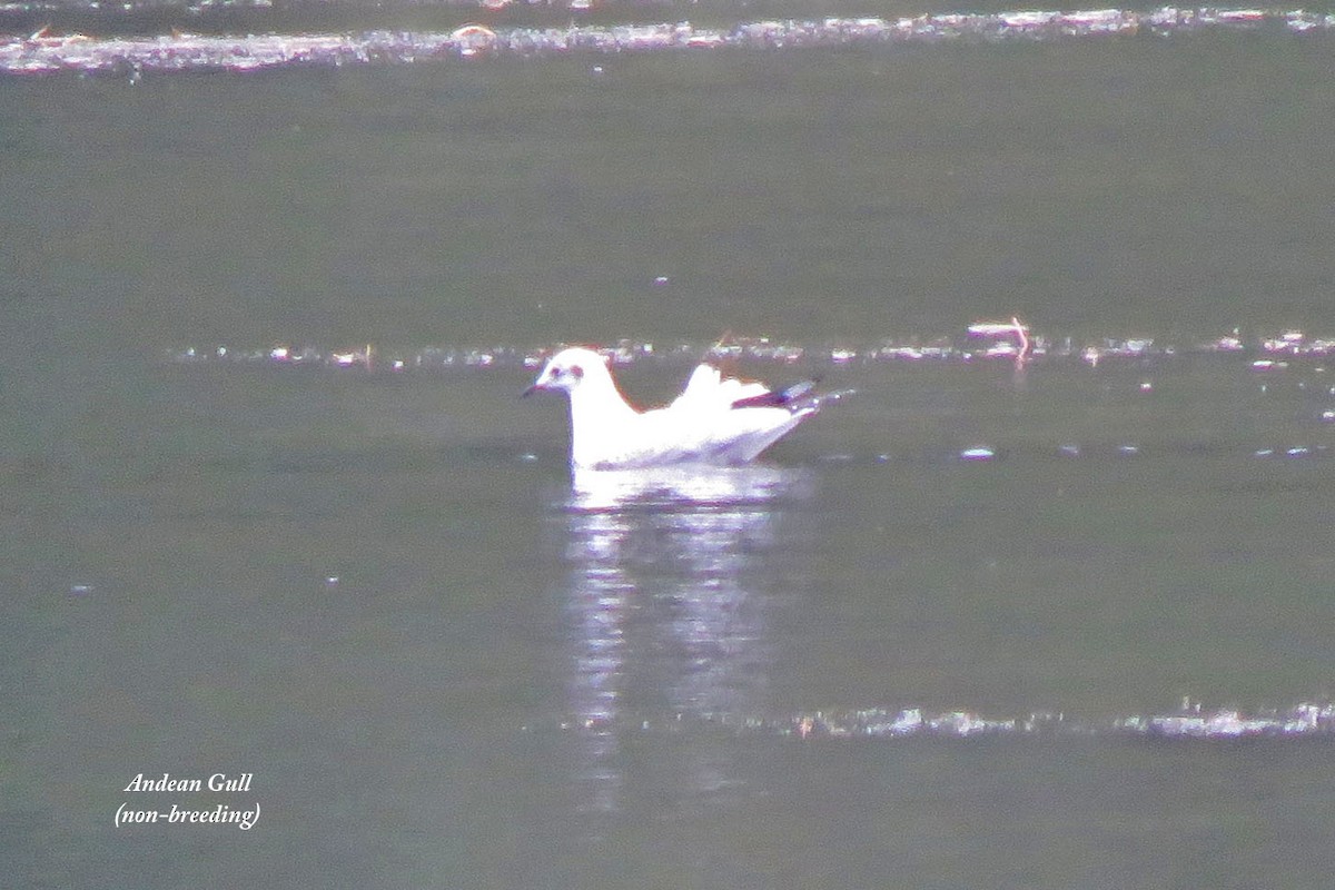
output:
[[8,303],[99,290],[89,323],[151,347],[1320,327],[1327,49],[7,81]]

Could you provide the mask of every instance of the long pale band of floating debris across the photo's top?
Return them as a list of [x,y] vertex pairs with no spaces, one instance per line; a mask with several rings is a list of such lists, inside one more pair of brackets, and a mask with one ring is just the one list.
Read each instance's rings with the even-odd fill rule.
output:
[[[587,0],[567,0],[575,4]],[[259,4],[263,5],[263,4]],[[127,11],[134,9],[131,4]],[[483,56],[569,53],[701,52],[716,48],[790,49],[957,40],[1069,40],[1148,32],[1171,35],[1207,28],[1271,27],[1292,33],[1335,29],[1335,15],[1302,9],[1092,9],[940,13],[913,17],[825,17],[746,21],[724,28],[689,21],[657,24],[579,24],[565,28],[489,28],[463,25],[450,32],[367,31],[363,33],[203,35],[100,37],[84,33],[31,36],[0,41],[0,73],[44,75],[61,71],[251,72],[284,67],[421,64]]]

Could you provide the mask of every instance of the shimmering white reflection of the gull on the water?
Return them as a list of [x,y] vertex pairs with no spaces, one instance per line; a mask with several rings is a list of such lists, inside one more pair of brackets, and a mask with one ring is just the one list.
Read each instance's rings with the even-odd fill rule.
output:
[[[782,503],[808,487],[764,466],[575,472],[563,671],[586,806],[617,807],[619,738],[639,722],[762,707],[774,603],[753,579]],[[726,785],[714,765],[686,770],[697,790]]]

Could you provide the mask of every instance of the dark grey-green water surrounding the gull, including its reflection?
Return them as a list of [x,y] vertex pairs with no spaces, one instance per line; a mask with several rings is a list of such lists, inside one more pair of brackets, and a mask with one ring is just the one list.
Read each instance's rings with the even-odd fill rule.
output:
[[[858,394],[774,450],[762,495],[619,511],[571,503],[563,408],[519,402],[518,367],[162,360],[725,330],[861,346],[1011,314],[1077,343],[1328,334],[1328,51],[0,83],[0,873],[1328,886],[1328,737],[728,722],[1328,701],[1323,359],[808,363]],[[686,370],[641,363],[626,388],[665,398]],[[997,456],[957,459],[983,444]],[[136,797],[139,773],[254,781]],[[262,815],[116,827],[127,799]]]

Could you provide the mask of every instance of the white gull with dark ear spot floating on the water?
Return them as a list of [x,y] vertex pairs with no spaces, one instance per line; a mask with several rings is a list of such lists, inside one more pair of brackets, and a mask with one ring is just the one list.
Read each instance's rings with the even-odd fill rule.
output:
[[701,364],[670,404],[638,411],[621,395],[603,356],[573,347],[551,356],[523,395],[547,390],[570,396],[571,467],[633,470],[749,463],[822,402],[842,395],[817,396],[814,386],[804,382],[776,392]]

